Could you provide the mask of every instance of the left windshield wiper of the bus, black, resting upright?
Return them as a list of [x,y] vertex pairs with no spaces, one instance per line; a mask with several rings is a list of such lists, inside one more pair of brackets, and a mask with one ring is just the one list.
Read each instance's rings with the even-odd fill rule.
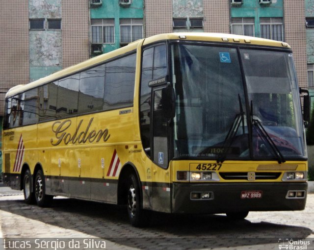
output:
[[244,111],[242,107],[242,102],[240,98],[240,94],[238,94],[239,98],[239,106],[240,106],[240,113],[235,115],[234,122],[232,123],[228,134],[226,136],[226,139],[224,141],[221,153],[218,155],[217,163],[223,163],[224,160],[226,159],[226,155],[228,150],[230,149],[233,139],[235,138],[235,135],[237,133],[237,130],[239,129],[241,123],[242,123],[242,130],[244,134]]

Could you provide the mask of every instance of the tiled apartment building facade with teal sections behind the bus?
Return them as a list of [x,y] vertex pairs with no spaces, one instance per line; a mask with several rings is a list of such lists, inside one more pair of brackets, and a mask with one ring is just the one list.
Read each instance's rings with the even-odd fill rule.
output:
[[10,87],[166,32],[285,41],[294,51],[300,86],[314,88],[313,6],[314,0],[5,0],[0,116]]

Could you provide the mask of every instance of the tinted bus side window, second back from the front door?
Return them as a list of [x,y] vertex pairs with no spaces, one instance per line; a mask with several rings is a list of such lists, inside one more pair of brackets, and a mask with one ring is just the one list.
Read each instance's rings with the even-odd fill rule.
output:
[[105,88],[105,65],[89,69],[80,74],[78,113],[103,109]]

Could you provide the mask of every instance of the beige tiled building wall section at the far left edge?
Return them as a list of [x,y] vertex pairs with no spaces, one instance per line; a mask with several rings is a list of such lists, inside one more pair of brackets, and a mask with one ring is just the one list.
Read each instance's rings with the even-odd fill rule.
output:
[[0,116],[7,90],[29,80],[28,0],[1,1]]

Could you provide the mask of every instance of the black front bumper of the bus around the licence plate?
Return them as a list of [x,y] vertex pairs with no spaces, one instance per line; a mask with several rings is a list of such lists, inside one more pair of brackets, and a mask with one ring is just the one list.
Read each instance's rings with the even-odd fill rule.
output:
[[[303,210],[307,182],[173,183],[173,212],[210,214],[240,211]],[[288,199],[291,190],[305,191],[303,198]],[[241,199],[244,191],[262,191],[262,198]],[[210,192],[210,199],[193,200],[191,192]]]

